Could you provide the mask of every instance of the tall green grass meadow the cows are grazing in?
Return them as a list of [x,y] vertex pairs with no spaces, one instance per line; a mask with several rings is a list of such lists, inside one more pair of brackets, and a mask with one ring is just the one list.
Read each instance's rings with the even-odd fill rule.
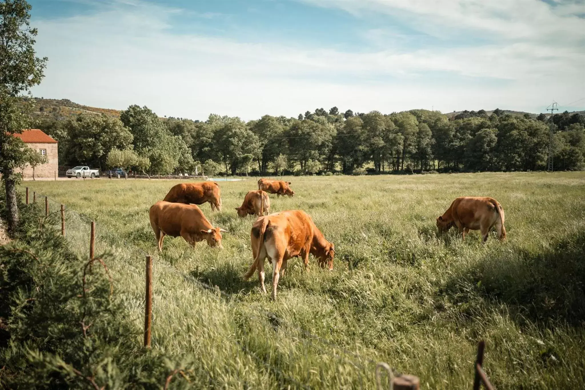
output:
[[[234,208],[256,179],[221,182],[222,212],[201,206],[230,232],[222,250],[166,237],[162,254],[148,210],[178,181],[37,181],[21,189],[66,204],[67,234],[80,253],[88,251],[88,220],[96,221],[96,250],[115,255],[115,296],[138,327],[144,254],[153,254],[153,347],[194,359],[204,373],[194,388],[376,388],[378,361],[417,375],[421,388],[471,388],[481,339],[496,388],[583,385],[585,172],[288,178],[297,195],[271,195],[271,212],[308,212],[335,243],[336,260],[328,272],[311,257],[308,273],[291,260],[276,302],[256,275],[241,278],[252,263],[254,218],[240,219]],[[507,241],[436,234],[435,218],[462,195],[501,203]],[[268,263],[266,275],[269,287]]]

